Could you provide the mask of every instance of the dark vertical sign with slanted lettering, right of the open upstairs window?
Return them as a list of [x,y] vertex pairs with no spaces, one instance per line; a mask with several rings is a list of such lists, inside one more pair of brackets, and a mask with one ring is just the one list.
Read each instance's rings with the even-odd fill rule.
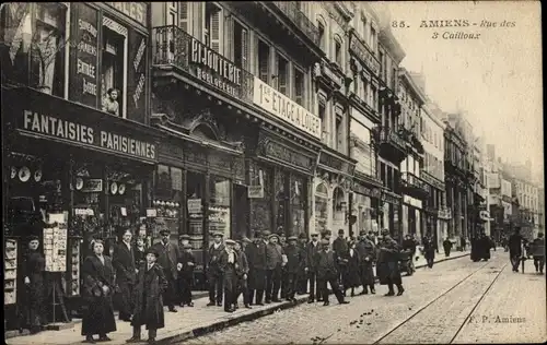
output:
[[127,75],[127,115],[131,120],[144,122],[147,108],[148,38],[129,31],[129,66]]

